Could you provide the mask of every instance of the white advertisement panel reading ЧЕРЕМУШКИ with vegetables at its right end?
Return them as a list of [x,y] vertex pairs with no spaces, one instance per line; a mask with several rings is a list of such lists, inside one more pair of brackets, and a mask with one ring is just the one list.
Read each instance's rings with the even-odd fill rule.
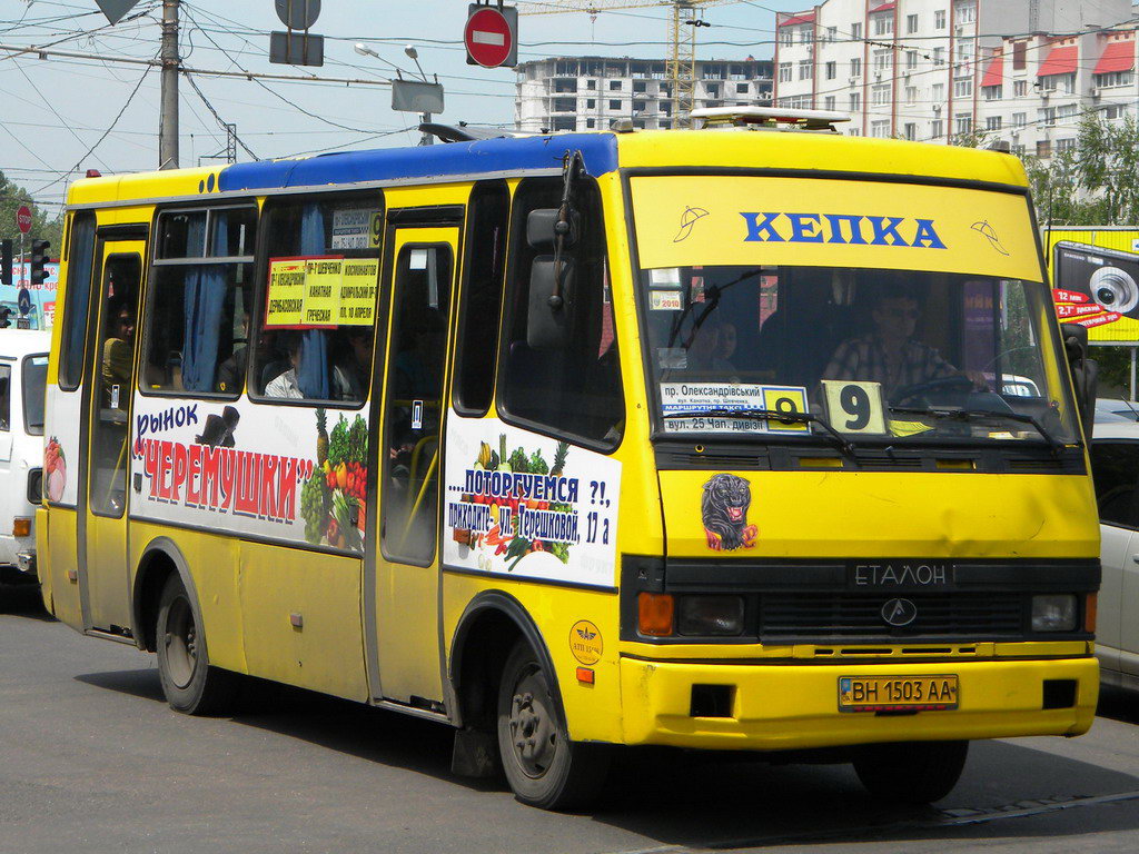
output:
[[363,412],[134,397],[131,516],[363,550]]

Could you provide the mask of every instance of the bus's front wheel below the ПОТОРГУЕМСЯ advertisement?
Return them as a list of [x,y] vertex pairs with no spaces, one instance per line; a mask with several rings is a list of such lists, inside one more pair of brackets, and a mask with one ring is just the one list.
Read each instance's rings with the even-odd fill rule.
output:
[[571,741],[549,674],[525,641],[502,668],[498,742],[514,796],[542,810],[580,810],[601,794],[608,745]]

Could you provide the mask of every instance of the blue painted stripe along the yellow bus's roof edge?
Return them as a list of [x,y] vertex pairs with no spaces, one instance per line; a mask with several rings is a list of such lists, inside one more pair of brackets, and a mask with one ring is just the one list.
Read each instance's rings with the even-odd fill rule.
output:
[[552,137],[485,139],[417,148],[380,148],[286,161],[261,161],[227,166],[218,175],[226,191],[319,187],[357,181],[477,175],[560,169],[568,151],[579,150],[591,175],[617,167],[617,141],[612,133],[559,133]]

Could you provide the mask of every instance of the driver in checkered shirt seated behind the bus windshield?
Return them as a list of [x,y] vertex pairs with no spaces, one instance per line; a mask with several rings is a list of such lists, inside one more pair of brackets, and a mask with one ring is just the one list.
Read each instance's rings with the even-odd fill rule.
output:
[[950,377],[967,378],[974,389],[986,389],[981,371],[959,370],[933,347],[913,340],[920,315],[918,301],[911,294],[896,289],[878,291],[870,312],[872,331],[839,344],[822,371],[822,379],[879,383],[887,401],[908,387]]

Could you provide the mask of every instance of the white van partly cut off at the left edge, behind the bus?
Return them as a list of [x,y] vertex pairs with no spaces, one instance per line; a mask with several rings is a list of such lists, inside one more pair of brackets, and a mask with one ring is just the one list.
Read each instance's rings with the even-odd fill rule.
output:
[[0,329],[0,584],[34,584],[51,332]]

